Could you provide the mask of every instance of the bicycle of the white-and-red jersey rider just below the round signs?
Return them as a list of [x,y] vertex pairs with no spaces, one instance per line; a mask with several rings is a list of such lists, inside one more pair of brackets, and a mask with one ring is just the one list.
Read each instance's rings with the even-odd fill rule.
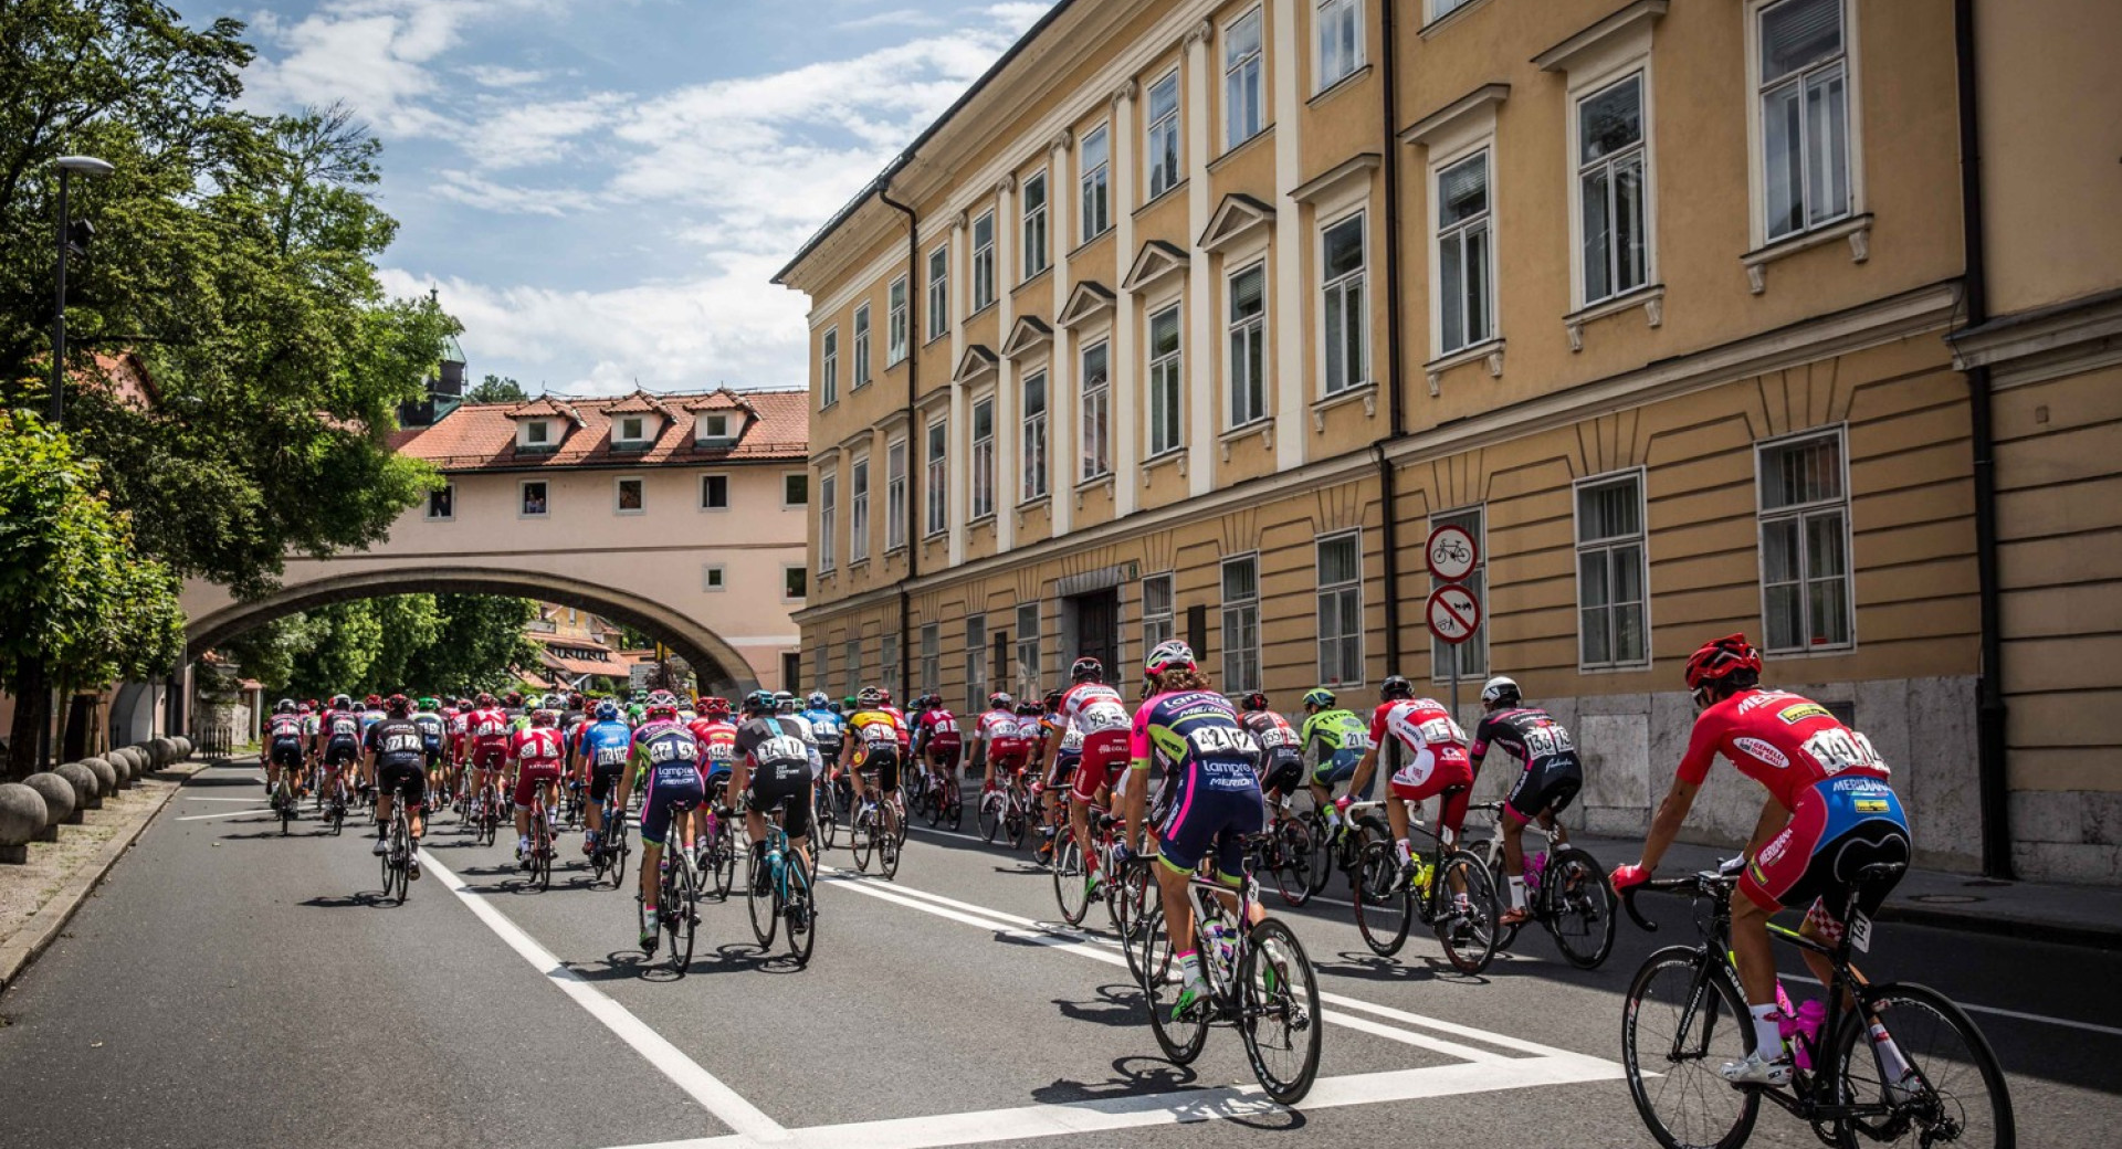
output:
[[[1451,797],[1464,786],[1449,786]],[[1415,850],[1411,865],[1401,865],[1396,842],[1379,839],[1362,846],[1362,859],[1350,876],[1350,901],[1356,903],[1356,931],[1373,954],[1390,958],[1407,943],[1415,918],[1437,933],[1445,960],[1460,973],[1481,973],[1496,956],[1496,884],[1488,865],[1468,850],[1458,850],[1409,814],[1409,831],[1428,839]]]

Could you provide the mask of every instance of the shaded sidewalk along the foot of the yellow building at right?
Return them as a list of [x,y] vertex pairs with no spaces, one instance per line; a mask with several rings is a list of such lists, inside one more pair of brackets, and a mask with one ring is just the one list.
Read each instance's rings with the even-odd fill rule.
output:
[[[1577,846],[1602,865],[1636,861],[1642,839],[1575,833]],[[1710,869],[1736,850],[1676,842],[1657,867],[1662,876]],[[1971,873],[1910,869],[1895,886],[1878,920],[1918,926],[1999,933],[2029,941],[2065,945],[2122,945],[2122,890],[2107,886],[2050,886],[2043,882],[1990,882]]]

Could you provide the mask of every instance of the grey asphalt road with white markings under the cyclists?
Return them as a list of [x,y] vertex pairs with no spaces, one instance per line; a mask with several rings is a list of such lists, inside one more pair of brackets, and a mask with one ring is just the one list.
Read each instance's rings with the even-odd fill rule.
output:
[[[1277,905],[1330,994],[1320,1083],[1286,1111],[1231,1030],[1165,1062],[1118,952],[970,835],[917,829],[891,884],[828,880],[808,969],[755,950],[743,899],[709,903],[685,979],[641,965],[630,884],[571,865],[526,890],[509,854],[443,823],[410,903],[380,903],[363,837],[282,839],[253,765],[199,774],[0,996],[0,1147],[1649,1145],[1619,1001],[1691,937],[1666,903],[1600,971],[1528,933],[1468,979],[1420,933],[1386,962],[1345,905]],[[1874,977],[1978,1007],[2020,1145],[2116,1143],[2122,956],[1920,926],[1874,952]],[[1753,1145],[1816,1143],[1763,1111]]]

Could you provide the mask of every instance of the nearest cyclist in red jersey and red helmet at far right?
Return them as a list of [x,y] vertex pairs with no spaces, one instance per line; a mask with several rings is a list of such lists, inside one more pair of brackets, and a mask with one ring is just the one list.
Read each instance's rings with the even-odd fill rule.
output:
[[[1717,755],[1768,789],[1738,880],[1744,897],[1732,899],[1732,954],[1757,1043],[1753,1054],[1725,1062],[1719,1073],[1734,1085],[1782,1085],[1791,1079],[1791,1058],[1776,1024],[1768,918],[1785,905],[1810,903],[1799,933],[1823,945],[1840,943],[1848,922],[1838,914],[1848,905],[1857,871],[1872,863],[1906,865],[1914,856],[1908,818],[1872,742],[1819,702],[1761,687],[1761,651],[1744,634],[1695,651],[1687,659],[1687,689],[1695,702],[1687,755],[1651,818],[1642,861],[1615,867],[1613,888],[1628,890],[1651,878],[1687,823]],[[1893,882],[1867,886],[1857,909],[1869,918],[1891,888]],[[1806,950],[1806,965],[1821,984],[1833,984],[1833,967],[1823,954]],[[1903,1081],[1912,1071],[1884,1026],[1874,1022],[1872,1041],[1886,1077]]]

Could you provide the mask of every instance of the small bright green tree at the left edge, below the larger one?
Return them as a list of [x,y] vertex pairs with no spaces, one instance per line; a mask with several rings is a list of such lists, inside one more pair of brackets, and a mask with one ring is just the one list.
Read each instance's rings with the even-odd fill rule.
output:
[[36,761],[32,702],[117,674],[144,676],[185,647],[170,570],[134,549],[100,471],[34,416],[0,411],[0,687],[15,693],[8,776]]

